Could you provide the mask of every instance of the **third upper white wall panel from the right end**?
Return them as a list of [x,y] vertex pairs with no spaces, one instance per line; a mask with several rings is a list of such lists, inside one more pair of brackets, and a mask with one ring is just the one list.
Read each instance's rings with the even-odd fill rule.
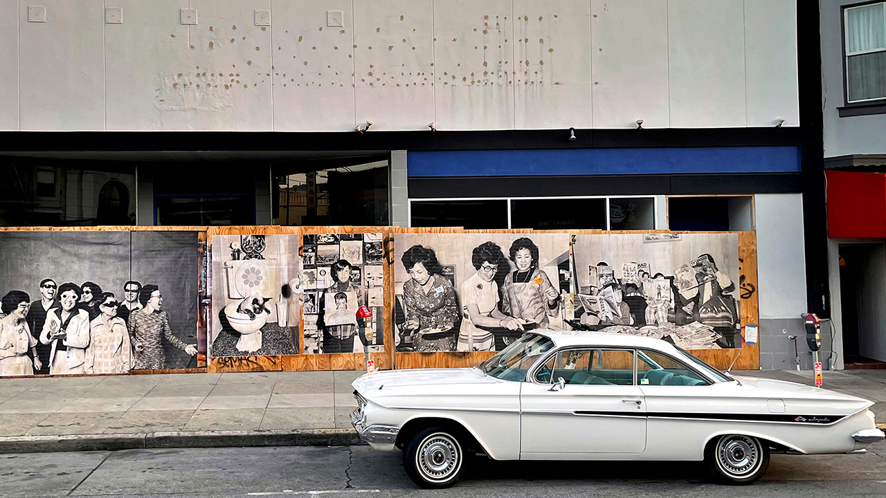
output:
[[667,0],[592,0],[596,128],[667,128]]

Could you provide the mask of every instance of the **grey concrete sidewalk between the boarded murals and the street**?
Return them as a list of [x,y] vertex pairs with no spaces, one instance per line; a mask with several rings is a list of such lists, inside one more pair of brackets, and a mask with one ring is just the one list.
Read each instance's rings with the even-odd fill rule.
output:
[[[359,371],[0,379],[0,453],[138,447],[357,444]],[[812,371],[735,371],[812,384]],[[824,372],[825,387],[877,401],[886,372]]]

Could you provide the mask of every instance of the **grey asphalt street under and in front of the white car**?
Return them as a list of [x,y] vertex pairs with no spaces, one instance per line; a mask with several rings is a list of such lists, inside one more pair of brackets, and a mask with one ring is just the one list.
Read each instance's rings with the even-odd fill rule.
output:
[[450,490],[417,488],[400,452],[369,447],[222,447],[0,455],[0,496],[282,497],[886,495],[886,442],[867,455],[773,455],[753,486],[719,486],[700,463],[475,461]]

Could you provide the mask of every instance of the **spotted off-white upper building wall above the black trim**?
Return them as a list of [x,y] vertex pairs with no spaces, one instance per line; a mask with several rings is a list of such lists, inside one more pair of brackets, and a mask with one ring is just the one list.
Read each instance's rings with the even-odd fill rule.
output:
[[2,129],[798,124],[794,0],[40,4],[44,23],[0,0]]

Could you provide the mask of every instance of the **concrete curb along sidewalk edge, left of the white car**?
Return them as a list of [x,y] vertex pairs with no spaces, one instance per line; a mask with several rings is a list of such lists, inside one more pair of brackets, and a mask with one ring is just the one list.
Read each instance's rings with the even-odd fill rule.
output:
[[353,446],[365,444],[353,429],[193,431],[77,434],[0,438],[0,453],[116,451],[160,447]]

